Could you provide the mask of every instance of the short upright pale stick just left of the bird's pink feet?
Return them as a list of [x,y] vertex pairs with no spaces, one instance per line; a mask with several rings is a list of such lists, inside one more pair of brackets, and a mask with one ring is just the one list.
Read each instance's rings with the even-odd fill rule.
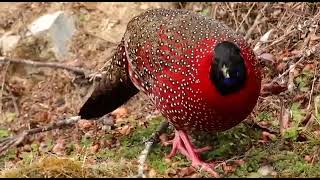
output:
[[159,140],[160,135],[168,128],[169,122],[168,121],[162,121],[158,129],[151,135],[151,137],[145,142],[145,148],[141,152],[139,156],[139,169],[138,169],[138,175],[135,176],[137,178],[144,178],[145,175],[143,173],[144,171],[144,163],[147,160],[147,156],[151,150],[152,145]]

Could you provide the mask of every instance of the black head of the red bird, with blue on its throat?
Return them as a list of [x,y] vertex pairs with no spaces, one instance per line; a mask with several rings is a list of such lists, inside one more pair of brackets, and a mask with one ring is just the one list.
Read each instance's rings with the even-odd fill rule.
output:
[[232,42],[221,42],[214,49],[210,78],[221,95],[239,91],[245,84],[247,71],[239,47]]

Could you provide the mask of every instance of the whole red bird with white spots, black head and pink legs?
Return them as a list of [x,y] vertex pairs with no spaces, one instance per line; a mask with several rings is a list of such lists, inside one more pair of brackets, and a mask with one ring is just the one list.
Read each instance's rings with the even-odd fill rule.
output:
[[175,127],[173,149],[214,176],[187,133],[224,131],[243,121],[260,95],[261,74],[244,38],[187,10],[155,9],[133,18],[107,75],[80,110],[99,117],[146,93]]

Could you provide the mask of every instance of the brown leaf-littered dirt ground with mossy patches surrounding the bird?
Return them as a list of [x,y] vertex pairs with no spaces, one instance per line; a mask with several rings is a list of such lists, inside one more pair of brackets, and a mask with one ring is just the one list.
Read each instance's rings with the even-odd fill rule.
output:
[[[224,177],[320,176],[319,3],[0,3],[0,37],[23,34],[27,25],[63,10],[76,20],[70,54],[60,62],[98,70],[121,40],[131,18],[149,8],[185,8],[222,21],[248,37],[263,67],[263,84],[288,90],[264,96],[249,119],[276,131],[241,124],[197,145],[213,145],[204,158]],[[0,56],[35,60],[37,48]],[[75,116],[88,84],[66,70],[0,64],[1,138]],[[276,90],[275,90],[276,91]],[[29,136],[0,154],[1,177],[132,177],[143,141],[163,119],[144,94],[112,113],[115,125],[81,120],[76,125]],[[107,120],[106,120],[107,121]],[[278,133],[281,131],[282,133]],[[172,131],[161,136],[172,137]],[[162,141],[162,140],[161,140]],[[147,177],[209,177],[183,156],[169,161],[158,143],[145,166]]]

